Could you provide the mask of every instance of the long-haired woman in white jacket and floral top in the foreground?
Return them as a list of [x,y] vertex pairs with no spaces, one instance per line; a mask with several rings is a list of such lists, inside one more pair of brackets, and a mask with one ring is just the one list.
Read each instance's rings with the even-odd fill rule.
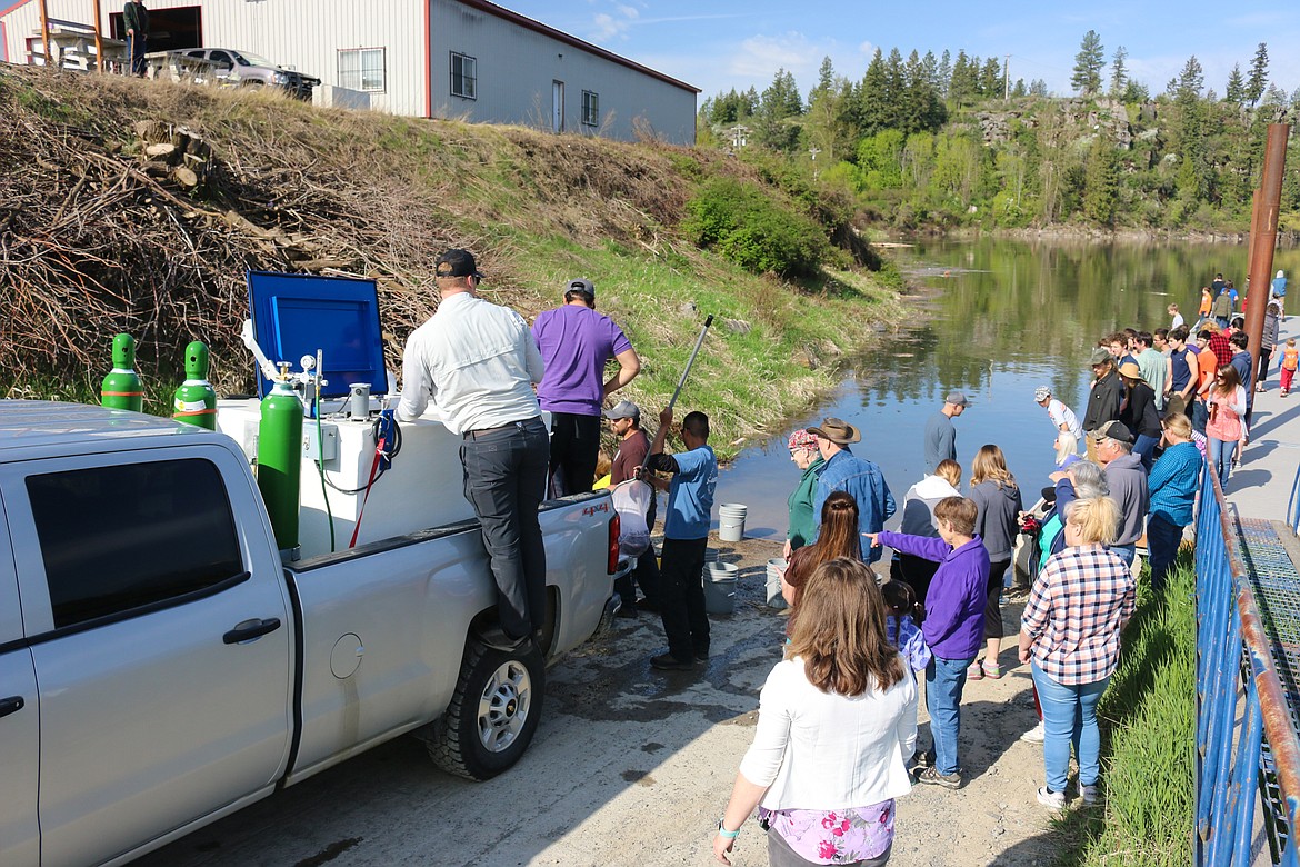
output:
[[714,838],[719,862],[731,863],[755,807],[772,867],[889,861],[893,799],[911,790],[916,684],[885,636],[885,615],[858,560],[831,560],[809,578]]

